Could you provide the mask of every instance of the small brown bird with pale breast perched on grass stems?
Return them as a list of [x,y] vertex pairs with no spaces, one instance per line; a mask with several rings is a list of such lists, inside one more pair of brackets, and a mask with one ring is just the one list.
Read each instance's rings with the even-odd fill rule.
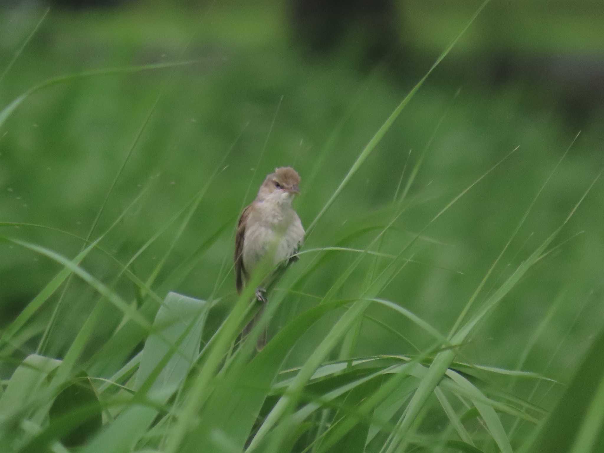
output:
[[[235,236],[235,283],[241,293],[246,281],[258,263],[273,252],[272,265],[297,260],[295,254],[304,239],[304,228],[300,217],[292,208],[294,196],[300,193],[300,176],[292,167],[280,167],[266,176],[256,199],[243,210]],[[263,283],[266,283],[266,280]],[[260,286],[255,291],[257,300],[262,302],[259,312],[243,329],[247,335],[262,315],[266,289]],[[266,332],[260,336],[257,349],[266,343]]]

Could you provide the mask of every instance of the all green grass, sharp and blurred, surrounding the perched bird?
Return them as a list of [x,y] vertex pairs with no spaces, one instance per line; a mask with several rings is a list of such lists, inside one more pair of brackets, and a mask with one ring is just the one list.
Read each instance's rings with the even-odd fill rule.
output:
[[[273,6],[0,10],[0,450],[602,451],[604,109],[478,82],[501,5],[417,27],[414,80]],[[256,353],[233,233],[280,165]]]

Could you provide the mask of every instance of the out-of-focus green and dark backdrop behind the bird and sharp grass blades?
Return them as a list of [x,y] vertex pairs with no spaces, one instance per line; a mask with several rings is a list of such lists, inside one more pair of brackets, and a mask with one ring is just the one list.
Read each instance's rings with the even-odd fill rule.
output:
[[[309,225],[368,140],[480,5],[419,0],[333,5],[191,0],[170,7],[161,1],[69,3],[50,5],[39,30],[0,80],[0,108],[56,76],[195,62],[73,79],[31,95],[0,126],[0,222],[34,223],[86,237],[126,162],[91,236],[106,231],[149,187],[101,242],[126,263],[204,187],[240,135],[158,277],[161,281],[226,223],[204,259],[170,288],[208,298],[218,286],[224,298],[211,315],[213,323],[235,298],[232,272],[221,284],[220,271],[231,265],[236,218],[266,173],[281,165],[297,169],[302,193],[295,207]],[[33,1],[0,7],[0,74],[46,7]],[[381,244],[382,252],[397,254],[461,190],[519,147],[424,231],[408,251],[421,264],[406,266],[381,295],[448,332],[577,133],[487,289],[564,222],[604,164],[603,23],[604,5],[597,1],[487,5],[320,220],[306,248],[333,246],[363,226],[387,223],[403,170],[402,187],[421,160],[407,196],[410,208]],[[489,316],[464,349],[466,358],[515,367],[554,306],[525,369],[568,380],[604,324],[603,220],[600,182],[557,243],[570,240],[541,260]],[[136,275],[149,276],[178,225],[172,223],[135,260],[131,269]],[[81,240],[34,226],[2,226],[1,234],[69,258],[82,247]],[[361,234],[345,245],[363,249],[374,234]],[[331,253],[329,265],[300,291],[322,296],[330,288],[352,252]],[[303,255],[297,266],[313,256]],[[339,296],[357,295],[373,265],[367,259]],[[119,272],[101,252],[89,255],[83,267],[105,282]],[[33,252],[0,243],[0,329],[59,270]],[[116,288],[128,299],[135,295],[125,278]],[[35,349],[59,295],[37,314],[31,339],[18,354]],[[94,297],[86,284],[71,282],[47,355],[62,356]],[[554,305],[556,300],[561,303]],[[292,296],[272,329],[315,303],[312,297]],[[418,345],[427,344],[425,334],[407,321],[379,307],[368,314]],[[119,321],[116,312],[96,338],[106,339]],[[327,319],[316,329],[324,332],[329,326]],[[309,335],[291,356],[292,364],[318,341],[320,336]],[[409,352],[413,349],[387,330],[364,323],[356,355]]]

